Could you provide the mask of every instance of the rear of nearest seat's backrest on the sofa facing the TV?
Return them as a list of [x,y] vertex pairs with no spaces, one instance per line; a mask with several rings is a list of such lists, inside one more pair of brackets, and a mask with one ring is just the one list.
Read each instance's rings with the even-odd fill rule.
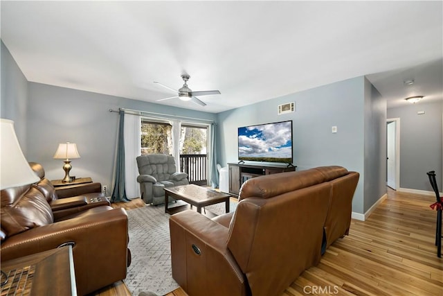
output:
[[318,264],[330,190],[329,183],[322,183],[237,204],[228,249],[248,278],[252,295],[275,295]]

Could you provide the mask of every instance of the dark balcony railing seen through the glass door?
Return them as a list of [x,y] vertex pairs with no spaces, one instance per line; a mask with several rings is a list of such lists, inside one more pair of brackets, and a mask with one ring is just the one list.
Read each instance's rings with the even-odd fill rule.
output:
[[206,154],[181,154],[180,171],[188,174],[188,180],[191,184],[208,184],[208,158]]

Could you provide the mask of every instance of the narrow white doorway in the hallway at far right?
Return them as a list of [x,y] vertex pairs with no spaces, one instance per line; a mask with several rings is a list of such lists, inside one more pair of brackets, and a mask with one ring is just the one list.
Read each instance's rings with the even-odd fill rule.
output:
[[386,184],[397,190],[400,186],[400,119],[386,120]]

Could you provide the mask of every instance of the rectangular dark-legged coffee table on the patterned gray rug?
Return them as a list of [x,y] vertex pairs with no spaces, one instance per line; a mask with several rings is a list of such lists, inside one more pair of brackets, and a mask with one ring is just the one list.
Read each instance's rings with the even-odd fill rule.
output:
[[206,207],[210,204],[217,204],[219,202],[226,202],[226,213],[229,213],[229,198],[230,195],[218,192],[206,187],[197,186],[195,184],[165,187],[165,213],[173,214],[173,211],[168,209],[169,196],[176,200],[183,200],[188,204],[197,207],[197,211],[201,214],[201,207]]

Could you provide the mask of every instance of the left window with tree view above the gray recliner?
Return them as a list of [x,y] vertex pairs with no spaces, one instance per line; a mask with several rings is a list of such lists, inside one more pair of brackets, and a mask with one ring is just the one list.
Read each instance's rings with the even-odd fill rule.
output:
[[172,125],[142,119],[141,154],[172,155]]

